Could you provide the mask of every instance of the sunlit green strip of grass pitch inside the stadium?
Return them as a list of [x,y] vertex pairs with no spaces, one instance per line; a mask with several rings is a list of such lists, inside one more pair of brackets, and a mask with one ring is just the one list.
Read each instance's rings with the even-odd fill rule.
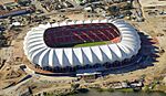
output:
[[95,45],[103,45],[103,44],[107,44],[107,43],[110,43],[110,41],[90,42],[90,43],[76,44],[76,45],[74,45],[74,47],[95,46]]

